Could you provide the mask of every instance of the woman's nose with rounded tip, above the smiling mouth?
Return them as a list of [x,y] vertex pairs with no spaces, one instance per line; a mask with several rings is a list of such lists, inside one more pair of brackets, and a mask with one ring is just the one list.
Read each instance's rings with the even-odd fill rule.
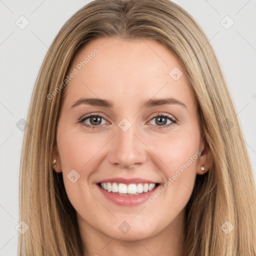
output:
[[112,140],[109,161],[122,168],[141,165],[146,160],[146,145],[140,138],[135,124],[126,131],[117,125],[116,133]]

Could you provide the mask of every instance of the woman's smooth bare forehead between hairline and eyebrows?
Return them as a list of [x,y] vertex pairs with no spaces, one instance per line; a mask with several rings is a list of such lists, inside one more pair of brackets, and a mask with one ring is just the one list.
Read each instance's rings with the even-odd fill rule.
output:
[[68,73],[74,69],[76,74],[66,88],[70,100],[83,94],[100,98],[133,95],[134,99],[134,94],[193,97],[180,62],[155,40],[94,39],[76,53]]

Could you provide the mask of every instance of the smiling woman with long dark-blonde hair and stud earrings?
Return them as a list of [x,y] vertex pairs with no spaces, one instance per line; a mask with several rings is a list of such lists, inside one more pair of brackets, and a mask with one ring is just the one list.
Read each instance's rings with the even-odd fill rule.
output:
[[19,255],[256,253],[234,105],[207,37],[177,4],[77,11],[45,56],[27,122]]

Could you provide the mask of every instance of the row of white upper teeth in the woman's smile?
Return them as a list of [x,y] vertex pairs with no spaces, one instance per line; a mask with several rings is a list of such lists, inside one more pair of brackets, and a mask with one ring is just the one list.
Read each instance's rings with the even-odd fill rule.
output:
[[116,182],[102,182],[100,186],[108,192],[118,192],[120,194],[135,194],[151,191],[154,187],[154,183],[139,183],[139,184],[124,184]]

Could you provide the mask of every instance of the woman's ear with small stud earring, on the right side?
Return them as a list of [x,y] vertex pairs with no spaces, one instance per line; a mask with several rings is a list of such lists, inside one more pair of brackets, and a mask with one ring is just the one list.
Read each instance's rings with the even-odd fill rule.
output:
[[[209,170],[212,164],[210,148],[205,138],[201,138],[199,150],[201,154],[198,156],[198,160],[196,163],[196,173],[202,175]],[[203,167],[204,170],[202,170],[201,167]]]

